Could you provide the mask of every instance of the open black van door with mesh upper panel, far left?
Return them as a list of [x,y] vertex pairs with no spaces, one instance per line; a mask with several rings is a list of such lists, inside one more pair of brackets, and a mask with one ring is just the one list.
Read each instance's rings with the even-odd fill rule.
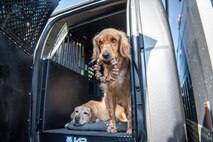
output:
[[0,141],[29,141],[33,53],[58,0],[0,2]]

